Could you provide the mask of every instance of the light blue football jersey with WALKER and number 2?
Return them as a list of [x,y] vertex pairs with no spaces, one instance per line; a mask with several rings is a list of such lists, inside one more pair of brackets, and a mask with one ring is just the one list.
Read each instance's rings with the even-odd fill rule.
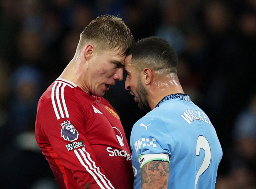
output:
[[170,189],[215,188],[221,144],[208,116],[188,95],[166,96],[137,121],[131,149],[134,189],[141,189],[140,166],[152,160],[169,161]]

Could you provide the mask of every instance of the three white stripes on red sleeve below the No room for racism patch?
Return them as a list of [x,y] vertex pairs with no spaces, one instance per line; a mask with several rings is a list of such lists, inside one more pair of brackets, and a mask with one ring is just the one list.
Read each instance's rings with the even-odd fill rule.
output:
[[[80,156],[80,154],[78,153],[77,150],[74,150],[76,157],[79,159],[80,163],[82,164],[82,166],[85,167],[85,169],[88,171],[88,173],[90,173],[94,180],[97,182],[97,184],[99,185],[99,187],[101,189],[114,189],[114,187],[112,186],[112,184],[110,183],[110,181],[106,178],[105,175],[103,175],[100,170],[99,167],[96,166],[95,162],[91,159],[90,154],[87,153],[87,151],[85,150],[85,148],[83,147],[82,149],[78,149],[80,154],[82,155],[82,157]],[[84,154],[84,152],[86,154]],[[86,156],[87,155],[87,156]],[[88,159],[90,160],[88,160]],[[84,160],[84,161],[83,161]],[[92,164],[93,163],[93,166]],[[104,178],[103,178],[103,177]],[[107,184],[108,182],[108,184]],[[111,188],[110,188],[111,187]]]

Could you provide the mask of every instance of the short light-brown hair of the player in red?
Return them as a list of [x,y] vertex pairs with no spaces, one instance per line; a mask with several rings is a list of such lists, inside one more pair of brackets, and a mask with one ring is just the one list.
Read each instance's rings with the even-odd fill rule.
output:
[[118,47],[124,54],[134,43],[133,35],[124,21],[117,16],[102,15],[91,21],[80,35],[82,40],[92,40],[110,49]]

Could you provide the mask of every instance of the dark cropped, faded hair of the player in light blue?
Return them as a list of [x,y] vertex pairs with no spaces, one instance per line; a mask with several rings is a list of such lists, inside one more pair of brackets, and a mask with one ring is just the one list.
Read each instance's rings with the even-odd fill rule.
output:
[[132,55],[132,63],[143,70],[149,67],[154,70],[167,69],[177,73],[178,56],[170,43],[160,37],[151,36],[136,42],[127,51],[126,56]]

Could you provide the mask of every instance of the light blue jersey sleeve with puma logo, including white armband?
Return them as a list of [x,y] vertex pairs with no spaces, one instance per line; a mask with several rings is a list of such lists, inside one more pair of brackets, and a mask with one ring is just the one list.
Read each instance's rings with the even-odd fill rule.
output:
[[143,117],[132,128],[131,149],[141,167],[148,161],[169,161],[174,144],[166,123],[157,117]]

